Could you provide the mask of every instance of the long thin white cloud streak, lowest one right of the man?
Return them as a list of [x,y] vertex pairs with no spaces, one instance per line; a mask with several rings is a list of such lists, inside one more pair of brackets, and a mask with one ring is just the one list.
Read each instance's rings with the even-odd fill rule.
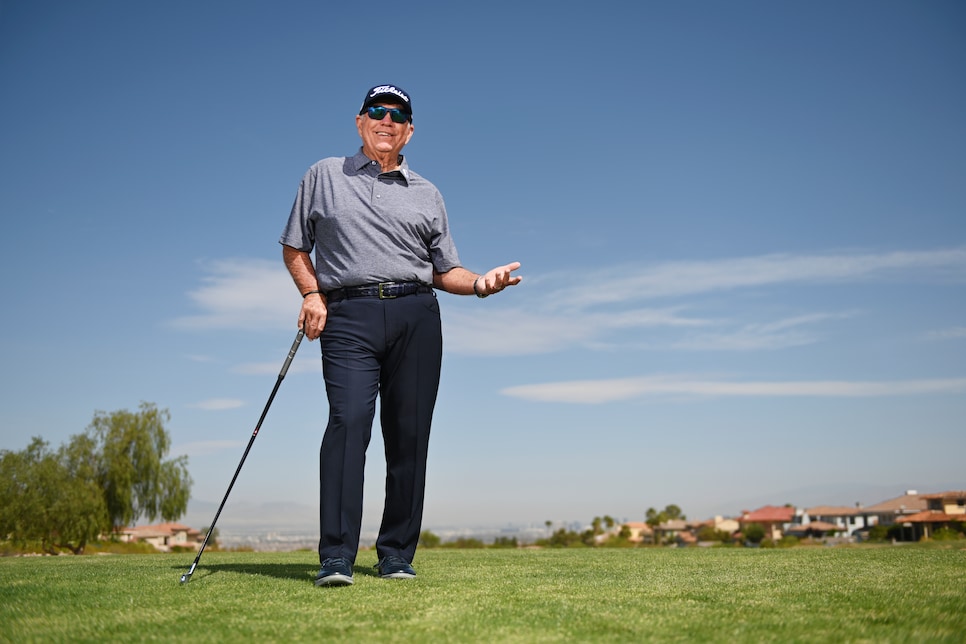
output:
[[686,376],[572,380],[509,387],[501,393],[534,402],[600,404],[654,396],[867,398],[966,392],[966,378],[898,381],[730,381]]

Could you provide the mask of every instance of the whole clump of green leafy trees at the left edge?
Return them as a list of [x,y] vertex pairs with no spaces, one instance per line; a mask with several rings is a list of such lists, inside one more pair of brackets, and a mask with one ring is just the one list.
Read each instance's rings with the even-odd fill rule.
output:
[[175,520],[191,491],[186,456],[164,460],[167,411],[97,412],[88,430],[56,452],[35,437],[0,451],[0,538],[79,554],[88,542],[140,516]]

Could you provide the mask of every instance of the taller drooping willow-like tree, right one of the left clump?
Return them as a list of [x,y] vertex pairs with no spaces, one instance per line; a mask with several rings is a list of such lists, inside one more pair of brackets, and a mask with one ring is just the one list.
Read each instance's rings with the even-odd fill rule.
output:
[[87,437],[99,449],[98,480],[114,526],[142,516],[171,521],[188,510],[188,457],[163,460],[170,449],[164,429],[170,417],[152,403],[141,403],[138,412],[94,414]]

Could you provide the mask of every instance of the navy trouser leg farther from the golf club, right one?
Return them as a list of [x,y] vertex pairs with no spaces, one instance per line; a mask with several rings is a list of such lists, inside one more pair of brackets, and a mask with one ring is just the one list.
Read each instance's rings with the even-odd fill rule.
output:
[[376,553],[380,558],[395,555],[411,562],[422,525],[443,341],[434,294],[393,300],[387,313],[390,342],[380,380],[386,501]]

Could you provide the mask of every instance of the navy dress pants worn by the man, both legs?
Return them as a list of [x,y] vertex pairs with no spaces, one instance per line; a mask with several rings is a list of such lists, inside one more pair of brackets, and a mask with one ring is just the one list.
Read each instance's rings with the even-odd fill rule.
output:
[[443,356],[436,294],[332,302],[320,344],[329,420],[319,456],[319,560],[355,561],[378,395],[386,499],[376,553],[412,562]]

